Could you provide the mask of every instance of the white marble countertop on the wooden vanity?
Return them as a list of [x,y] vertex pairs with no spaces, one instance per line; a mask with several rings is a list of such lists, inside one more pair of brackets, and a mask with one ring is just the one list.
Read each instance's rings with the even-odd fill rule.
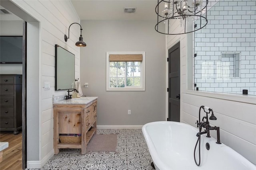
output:
[[98,97],[80,97],[68,100],[61,100],[59,102],[53,102],[53,104],[88,104],[96,100],[97,98]]

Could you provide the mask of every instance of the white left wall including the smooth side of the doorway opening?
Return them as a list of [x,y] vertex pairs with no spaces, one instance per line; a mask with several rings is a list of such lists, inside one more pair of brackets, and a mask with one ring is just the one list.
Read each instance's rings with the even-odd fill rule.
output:
[[[64,95],[66,92],[66,90],[54,91],[54,45],[58,44],[76,55],[75,75],[79,77],[80,48],[75,46],[80,33],[79,27],[70,28],[68,42],[64,41],[64,34],[68,34],[68,27],[71,23],[79,23],[80,20],[70,1],[14,0],[13,2],[39,21],[39,23],[28,23],[28,41],[29,37],[34,35],[38,43],[32,45],[28,42],[27,47],[27,68],[30,71],[27,83],[32,87],[28,89],[30,92],[27,100],[36,102],[35,104],[27,103],[27,107],[30,108],[27,110],[27,126],[28,132],[31,132],[27,134],[27,141],[31,141],[27,146],[27,165],[28,168],[41,168],[54,154],[52,97]],[[50,82],[50,90],[43,89],[44,82]],[[38,137],[33,143],[35,133]]]

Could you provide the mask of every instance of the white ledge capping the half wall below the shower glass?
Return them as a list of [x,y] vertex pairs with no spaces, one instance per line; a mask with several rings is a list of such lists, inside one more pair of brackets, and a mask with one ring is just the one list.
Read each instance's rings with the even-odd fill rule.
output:
[[256,105],[256,96],[252,96],[252,95],[219,93],[219,92],[204,92],[204,91],[195,91],[195,90],[186,90],[186,94],[192,94],[192,95],[196,95],[196,96],[204,96],[204,97],[209,97],[209,98],[230,100],[230,101],[234,101],[234,102],[242,102],[242,103]]

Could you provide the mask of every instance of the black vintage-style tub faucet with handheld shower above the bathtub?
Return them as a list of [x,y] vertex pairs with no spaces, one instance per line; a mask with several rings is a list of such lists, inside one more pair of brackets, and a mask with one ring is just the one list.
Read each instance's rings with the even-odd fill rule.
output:
[[[202,118],[202,121],[200,122],[200,111],[201,109],[204,110],[204,112],[206,113],[206,116],[204,116]],[[220,127],[212,127],[210,126],[210,123],[208,121],[208,114],[210,114],[210,112],[212,112],[212,115],[209,117],[210,120],[217,120],[217,118],[214,116],[213,110],[210,109],[209,107],[206,106],[201,106],[199,109],[199,122],[196,121],[196,125],[197,127],[199,127],[199,132],[196,134],[197,137],[199,137],[202,134],[206,134],[206,137],[211,137],[210,136],[210,130],[216,130],[217,131],[217,144],[221,144],[220,142]],[[202,131],[202,128],[204,128],[205,130]]]

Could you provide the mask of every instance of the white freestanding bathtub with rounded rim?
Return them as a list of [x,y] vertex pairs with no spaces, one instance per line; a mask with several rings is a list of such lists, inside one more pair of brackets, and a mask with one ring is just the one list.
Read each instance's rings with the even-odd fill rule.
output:
[[[199,130],[191,125],[157,121],[144,125],[142,132],[157,170],[256,170],[256,166],[242,155],[223,143],[217,144],[216,139],[206,134],[201,135],[201,164],[197,166],[194,147]],[[213,133],[216,131],[211,130],[210,135]],[[206,143],[210,144],[209,150]],[[198,146],[196,160],[199,160]]]

